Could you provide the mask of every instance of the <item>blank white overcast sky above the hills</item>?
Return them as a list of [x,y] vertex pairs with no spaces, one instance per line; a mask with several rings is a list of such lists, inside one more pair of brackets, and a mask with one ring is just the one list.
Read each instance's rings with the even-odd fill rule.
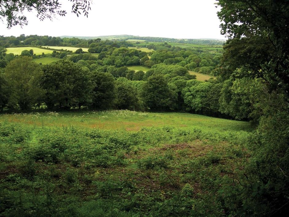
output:
[[28,25],[7,29],[0,35],[102,36],[129,34],[170,38],[216,38],[220,34],[216,0],[93,0],[88,18],[71,13],[69,0],[60,0],[65,17],[40,21],[35,12],[24,13]]

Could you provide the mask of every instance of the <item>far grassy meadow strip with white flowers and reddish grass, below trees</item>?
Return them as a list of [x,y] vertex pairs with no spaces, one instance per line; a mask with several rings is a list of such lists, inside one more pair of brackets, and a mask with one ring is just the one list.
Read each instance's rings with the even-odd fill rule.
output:
[[213,118],[189,113],[148,113],[132,112],[126,110],[113,110],[104,112],[62,112],[35,114],[3,114],[1,121],[33,124],[36,126],[83,126],[101,129],[125,129],[139,130],[141,127],[164,127],[177,128],[200,128],[213,132],[216,131],[239,131],[248,128],[247,122]]

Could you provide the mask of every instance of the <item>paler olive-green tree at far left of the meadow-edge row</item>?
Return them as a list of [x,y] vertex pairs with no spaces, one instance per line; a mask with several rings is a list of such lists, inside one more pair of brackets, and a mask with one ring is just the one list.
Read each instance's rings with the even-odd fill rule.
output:
[[10,105],[18,105],[24,110],[41,101],[43,72],[31,58],[24,56],[10,61],[5,74],[11,92]]

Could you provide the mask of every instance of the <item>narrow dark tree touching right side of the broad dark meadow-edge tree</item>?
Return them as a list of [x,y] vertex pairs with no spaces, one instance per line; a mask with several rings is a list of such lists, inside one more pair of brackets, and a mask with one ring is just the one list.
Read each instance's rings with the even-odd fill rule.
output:
[[113,106],[115,98],[115,85],[110,73],[93,72],[93,108],[108,109]]

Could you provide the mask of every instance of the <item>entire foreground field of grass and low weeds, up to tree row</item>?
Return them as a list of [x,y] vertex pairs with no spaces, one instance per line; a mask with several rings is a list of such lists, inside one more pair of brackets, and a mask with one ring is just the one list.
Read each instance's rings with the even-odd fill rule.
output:
[[250,131],[176,112],[2,114],[0,215],[224,216],[218,189],[242,170]]

